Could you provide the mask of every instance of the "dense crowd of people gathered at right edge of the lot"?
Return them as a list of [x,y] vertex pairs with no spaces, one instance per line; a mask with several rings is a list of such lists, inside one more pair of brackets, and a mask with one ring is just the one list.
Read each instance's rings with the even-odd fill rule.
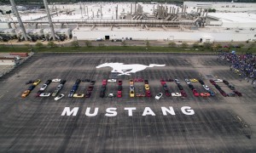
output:
[[230,71],[235,71],[240,76],[240,81],[251,81],[253,88],[256,88],[256,55],[236,54],[235,51],[219,52],[218,58],[230,63]]

